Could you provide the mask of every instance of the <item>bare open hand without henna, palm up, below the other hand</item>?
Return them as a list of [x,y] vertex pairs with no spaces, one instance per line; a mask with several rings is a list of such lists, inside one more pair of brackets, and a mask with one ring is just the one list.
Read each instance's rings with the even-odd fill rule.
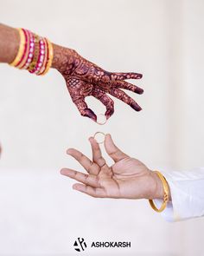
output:
[[61,174],[80,181],[73,189],[100,198],[163,199],[163,185],[157,174],[141,161],[124,154],[115,146],[111,135],[105,135],[105,151],[115,162],[112,167],[106,164],[97,141],[93,138],[89,141],[92,161],[76,149],[67,150],[88,173],[68,168],[61,170]]

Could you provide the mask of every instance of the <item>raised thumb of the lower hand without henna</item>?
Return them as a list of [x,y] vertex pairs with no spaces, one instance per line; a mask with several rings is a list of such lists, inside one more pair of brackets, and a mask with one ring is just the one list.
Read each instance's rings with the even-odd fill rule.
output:
[[126,157],[129,157],[127,154],[124,154],[112,141],[111,135],[105,135],[105,151],[109,154],[113,161],[117,162]]

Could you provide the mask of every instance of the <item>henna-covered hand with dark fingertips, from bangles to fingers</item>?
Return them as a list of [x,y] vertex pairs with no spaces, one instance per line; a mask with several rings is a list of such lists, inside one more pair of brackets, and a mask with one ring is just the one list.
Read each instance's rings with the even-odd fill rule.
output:
[[59,70],[67,82],[67,89],[80,114],[97,121],[97,116],[85,102],[86,96],[93,96],[106,107],[106,119],[114,112],[114,102],[107,95],[113,95],[119,100],[140,111],[142,108],[121,89],[143,94],[138,88],[125,79],[140,79],[143,75],[137,73],[112,73],[99,68],[92,62],[81,57],[75,50],[54,45],[53,68]]

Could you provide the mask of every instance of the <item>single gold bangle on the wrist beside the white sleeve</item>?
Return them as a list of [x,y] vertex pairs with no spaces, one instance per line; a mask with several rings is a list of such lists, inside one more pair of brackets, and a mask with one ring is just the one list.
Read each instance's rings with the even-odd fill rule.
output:
[[153,210],[156,211],[156,213],[162,213],[163,210],[167,207],[167,203],[169,201],[169,186],[168,183],[166,181],[166,179],[163,177],[163,174],[161,174],[158,171],[155,171],[155,173],[158,175],[159,179],[162,181],[163,183],[163,204],[162,206],[158,209],[154,203],[153,200],[149,200],[150,202],[150,206],[152,207]]

